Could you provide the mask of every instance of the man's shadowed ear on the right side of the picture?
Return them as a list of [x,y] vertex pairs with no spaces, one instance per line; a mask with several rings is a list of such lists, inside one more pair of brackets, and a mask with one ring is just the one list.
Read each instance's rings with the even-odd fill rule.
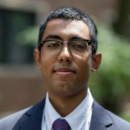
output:
[[92,64],[92,72],[96,72],[100,66],[101,63],[101,59],[102,59],[102,54],[101,53],[96,53],[94,55],[94,59],[93,59],[93,64]]

